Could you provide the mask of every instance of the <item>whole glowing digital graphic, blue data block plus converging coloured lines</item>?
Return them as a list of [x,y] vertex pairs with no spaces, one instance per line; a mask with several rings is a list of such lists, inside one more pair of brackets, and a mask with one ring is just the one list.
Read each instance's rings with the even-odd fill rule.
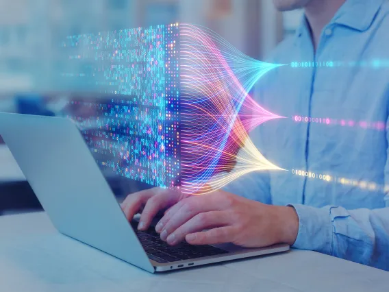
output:
[[283,65],[250,58],[206,27],[178,23],[71,36],[62,47],[73,48],[71,71],[62,73],[69,84],[120,95],[83,102],[94,117],[73,117],[91,150],[111,156],[100,163],[114,173],[204,193],[205,184],[220,188],[251,171],[280,170],[248,132],[281,117],[248,93]]

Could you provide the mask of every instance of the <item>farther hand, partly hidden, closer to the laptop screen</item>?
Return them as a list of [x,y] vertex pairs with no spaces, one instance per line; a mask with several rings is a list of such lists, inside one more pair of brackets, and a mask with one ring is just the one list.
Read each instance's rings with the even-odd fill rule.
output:
[[132,220],[134,215],[142,212],[138,224],[138,230],[147,230],[155,215],[170,208],[181,199],[185,199],[188,195],[184,193],[166,188],[151,188],[149,190],[140,191],[128,195],[121,208],[128,220]]

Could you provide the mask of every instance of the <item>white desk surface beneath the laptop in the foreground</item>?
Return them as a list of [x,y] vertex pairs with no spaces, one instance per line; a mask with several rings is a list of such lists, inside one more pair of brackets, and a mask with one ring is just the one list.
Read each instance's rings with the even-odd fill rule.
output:
[[44,212],[0,217],[1,291],[388,291],[389,273],[292,250],[151,274],[58,234]]

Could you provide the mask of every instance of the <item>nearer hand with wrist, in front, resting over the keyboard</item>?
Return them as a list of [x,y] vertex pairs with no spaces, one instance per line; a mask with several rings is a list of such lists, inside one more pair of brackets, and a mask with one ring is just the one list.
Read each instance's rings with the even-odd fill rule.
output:
[[170,245],[184,239],[192,245],[292,245],[299,230],[294,208],[265,205],[221,190],[175,202],[155,228]]

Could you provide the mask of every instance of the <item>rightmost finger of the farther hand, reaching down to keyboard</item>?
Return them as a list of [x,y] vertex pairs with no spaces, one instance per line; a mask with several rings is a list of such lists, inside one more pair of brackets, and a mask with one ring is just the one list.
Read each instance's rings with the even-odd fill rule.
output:
[[147,230],[151,221],[164,208],[168,208],[177,203],[181,194],[177,191],[159,188],[158,193],[147,200],[145,208],[140,215],[138,230]]

